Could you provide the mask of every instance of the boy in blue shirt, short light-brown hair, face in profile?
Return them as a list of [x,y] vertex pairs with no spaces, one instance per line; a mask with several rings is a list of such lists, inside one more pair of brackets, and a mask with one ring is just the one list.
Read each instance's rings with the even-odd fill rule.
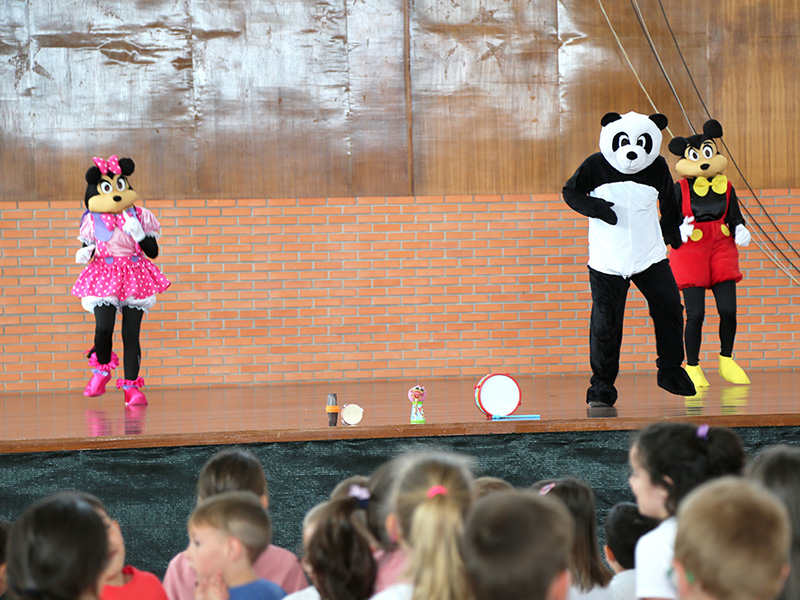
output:
[[[186,559],[197,575],[197,600],[280,600],[286,593],[261,579],[253,564],[272,538],[266,509],[252,492],[225,492],[189,517]],[[227,594],[226,594],[227,591]]]

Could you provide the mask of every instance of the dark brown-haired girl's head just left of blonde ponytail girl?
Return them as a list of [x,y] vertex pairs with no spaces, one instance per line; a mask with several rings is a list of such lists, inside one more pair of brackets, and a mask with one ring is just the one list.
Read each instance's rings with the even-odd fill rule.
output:
[[320,595],[336,600],[371,597],[377,567],[358,499],[326,502],[314,512],[313,520],[305,562]]

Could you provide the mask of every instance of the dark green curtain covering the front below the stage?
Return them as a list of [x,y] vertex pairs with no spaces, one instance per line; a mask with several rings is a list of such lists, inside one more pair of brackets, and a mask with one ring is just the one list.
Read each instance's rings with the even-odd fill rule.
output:
[[[750,456],[777,443],[800,443],[798,427],[737,430]],[[630,431],[504,434],[439,438],[283,442],[246,446],[264,464],[274,542],[298,550],[306,511],[350,475],[369,475],[408,450],[448,450],[475,460],[476,475],[526,487],[548,477],[587,481],[605,513],[632,500],[627,484]],[[35,500],[65,489],[98,496],[122,526],[129,564],[163,577],[187,543],[197,474],[221,446],[44,452],[0,456],[0,517],[13,520]]]

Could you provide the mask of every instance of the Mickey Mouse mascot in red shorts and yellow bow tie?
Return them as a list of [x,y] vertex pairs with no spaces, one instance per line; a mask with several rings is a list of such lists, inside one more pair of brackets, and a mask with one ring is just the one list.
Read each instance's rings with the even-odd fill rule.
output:
[[686,371],[697,388],[709,386],[700,368],[707,289],[714,293],[719,313],[719,374],[730,383],[750,383],[733,360],[733,341],[736,283],[742,280],[736,246],[747,246],[751,236],[736,191],[722,174],[728,159],[717,148],[715,140],[721,137],[722,125],[711,119],[702,134],[669,143],[669,151],[679,157],[675,170],[684,177],[675,184],[684,215],[683,245],[670,253],[669,262],[686,303]]

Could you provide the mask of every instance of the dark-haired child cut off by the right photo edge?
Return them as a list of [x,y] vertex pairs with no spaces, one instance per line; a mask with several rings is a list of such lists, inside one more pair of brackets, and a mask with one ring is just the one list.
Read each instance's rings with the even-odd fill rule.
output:
[[800,448],[781,444],[760,452],[747,466],[748,478],[780,498],[792,525],[791,570],[780,600],[800,598]]

